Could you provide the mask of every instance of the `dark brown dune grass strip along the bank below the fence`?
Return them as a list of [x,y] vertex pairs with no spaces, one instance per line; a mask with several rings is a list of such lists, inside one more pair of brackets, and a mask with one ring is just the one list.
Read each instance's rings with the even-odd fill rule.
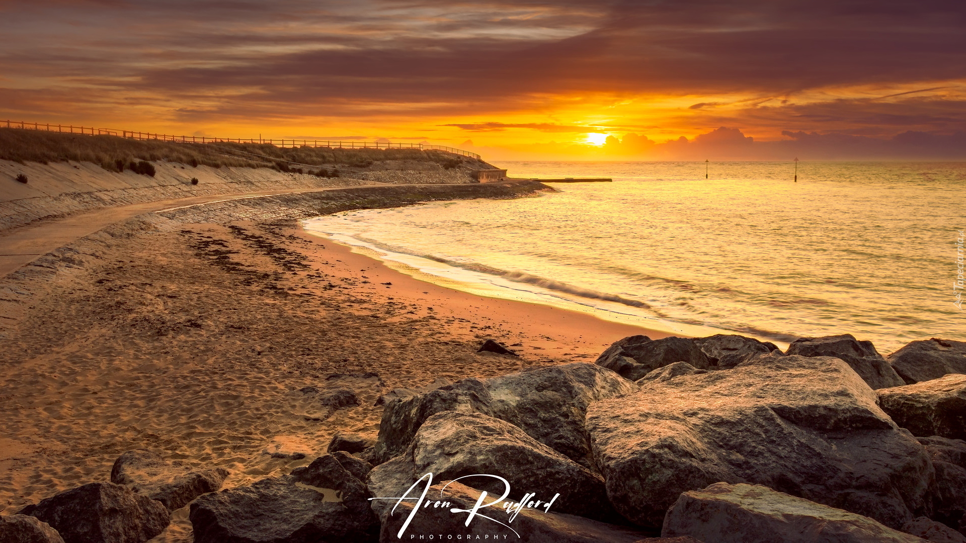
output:
[[[112,135],[86,135],[29,129],[0,129],[0,159],[23,163],[87,161],[106,170],[125,168],[148,173],[142,161],[167,160],[192,166],[270,167],[300,171],[300,164],[323,167],[335,174],[340,167],[369,168],[384,160],[408,160],[438,164],[444,169],[478,167],[484,162],[442,151],[419,149],[339,149],[328,147],[277,147],[253,143],[180,143],[135,140]],[[298,164],[292,164],[297,162]],[[329,172],[326,167],[332,168]],[[421,169],[421,168],[420,168]]]

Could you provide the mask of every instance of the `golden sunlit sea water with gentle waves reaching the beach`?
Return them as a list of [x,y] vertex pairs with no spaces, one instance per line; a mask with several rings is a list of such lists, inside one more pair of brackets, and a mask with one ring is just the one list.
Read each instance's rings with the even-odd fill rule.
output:
[[[852,333],[883,355],[966,339],[953,305],[966,163],[502,162],[611,177],[519,200],[313,218],[310,230],[485,296],[652,329],[785,343]],[[616,338],[615,338],[616,339]]]

